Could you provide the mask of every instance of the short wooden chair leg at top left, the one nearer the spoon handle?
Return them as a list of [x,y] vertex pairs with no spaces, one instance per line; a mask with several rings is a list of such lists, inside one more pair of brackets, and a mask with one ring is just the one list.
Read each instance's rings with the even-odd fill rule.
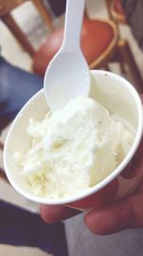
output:
[[41,0],[31,0],[31,2],[33,3],[37,11],[41,13],[41,16],[43,17],[45,23],[47,24],[51,32],[54,31],[55,28],[53,26],[51,13],[46,9],[43,2]]

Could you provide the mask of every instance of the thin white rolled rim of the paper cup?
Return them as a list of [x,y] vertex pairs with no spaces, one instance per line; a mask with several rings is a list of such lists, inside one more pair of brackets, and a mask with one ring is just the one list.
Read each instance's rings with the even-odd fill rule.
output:
[[42,198],[42,197],[38,197],[38,196],[34,196],[31,195],[30,192],[26,191],[25,188],[21,188],[20,184],[17,184],[13,178],[12,175],[10,175],[10,171],[9,171],[9,167],[7,165],[7,145],[9,143],[9,139],[10,139],[10,133],[15,125],[15,123],[17,122],[19,116],[21,115],[21,113],[23,112],[23,110],[31,104],[32,100],[34,98],[37,98],[41,93],[44,92],[44,89],[39,90],[36,94],[34,94],[31,99],[26,103],[26,105],[24,105],[21,110],[19,111],[19,113],[17,114],[17,116],[15,117],[14,121],[11,124],[8,136],[6,138],[6,142],[5,142],[5,148],[4,148],[4,167],[5,167],[5,171],[6,171],[6,175],[8,176],[10,183],[12,184],[12,186],[14,187],[14,189],[21,194],[22,196],[24,196],[25,198],[30,199],[31,201],[35,201],[38,203],[42,203],[42,204],[49,204],[49,205],[61,205],[61,204],[69,204],[84,198],[88,198],[90,196],[92,196],[93,194],[97,193],[98,191],[100,191],[102,188],[104,188],[106,185],[108,185],[109,183],[112,182],[112,180],[117,177],[117,175],[119,175],[124,169],[125,167],[130,163],[131,159],[133,158],[133,155],[135,153],[135,151],[137,151],[137,148],[141,142],[142,139],[142,135],[143,135],[143,107],[142,107],[142,102],[141,99],[137,93],[137,91],[134,89],[133,85],[131,82],[125,80],[124,78],[122,78],[121,76],[114,74],[112,72],[109,71],[103,71],[103,70],[91,70],[90,71],[91,74],[95,75],[95,74],[109,74],[110,76],[119,79],[120,81],[123,81],[123,83],[121,82],[121,84],[125,84],[127,85],[128,89],[131,91],[133,98],[134,98],[134,103],[136,103],[136,107],[137,107],[137,112],[138,112],[138,116],[139,116],[139,120],[138,120],[138,126],[137,126],[137,130],[136,130],[136,135],[133,141],[133,146],[131,148],[131,150],[129,151],[129,153],[126,155],[126,157],[123,159],[123,161],[120,163],[120,165],[107,177],[105,177],[103,180],[101,180],[99,183],[97,183],[96,185],[94,185],[92,188],[88,188],[86,189],[84,192],[79,193],[77,196],[73,196],[73,197],[66,197],[66,198]]

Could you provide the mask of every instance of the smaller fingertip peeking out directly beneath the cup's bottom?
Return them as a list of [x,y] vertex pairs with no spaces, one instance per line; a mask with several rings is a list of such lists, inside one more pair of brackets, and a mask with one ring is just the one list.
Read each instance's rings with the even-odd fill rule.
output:
[[69,219],[80,212],[66,206],[41,205],[40,213],[44,221],[52,223]]

